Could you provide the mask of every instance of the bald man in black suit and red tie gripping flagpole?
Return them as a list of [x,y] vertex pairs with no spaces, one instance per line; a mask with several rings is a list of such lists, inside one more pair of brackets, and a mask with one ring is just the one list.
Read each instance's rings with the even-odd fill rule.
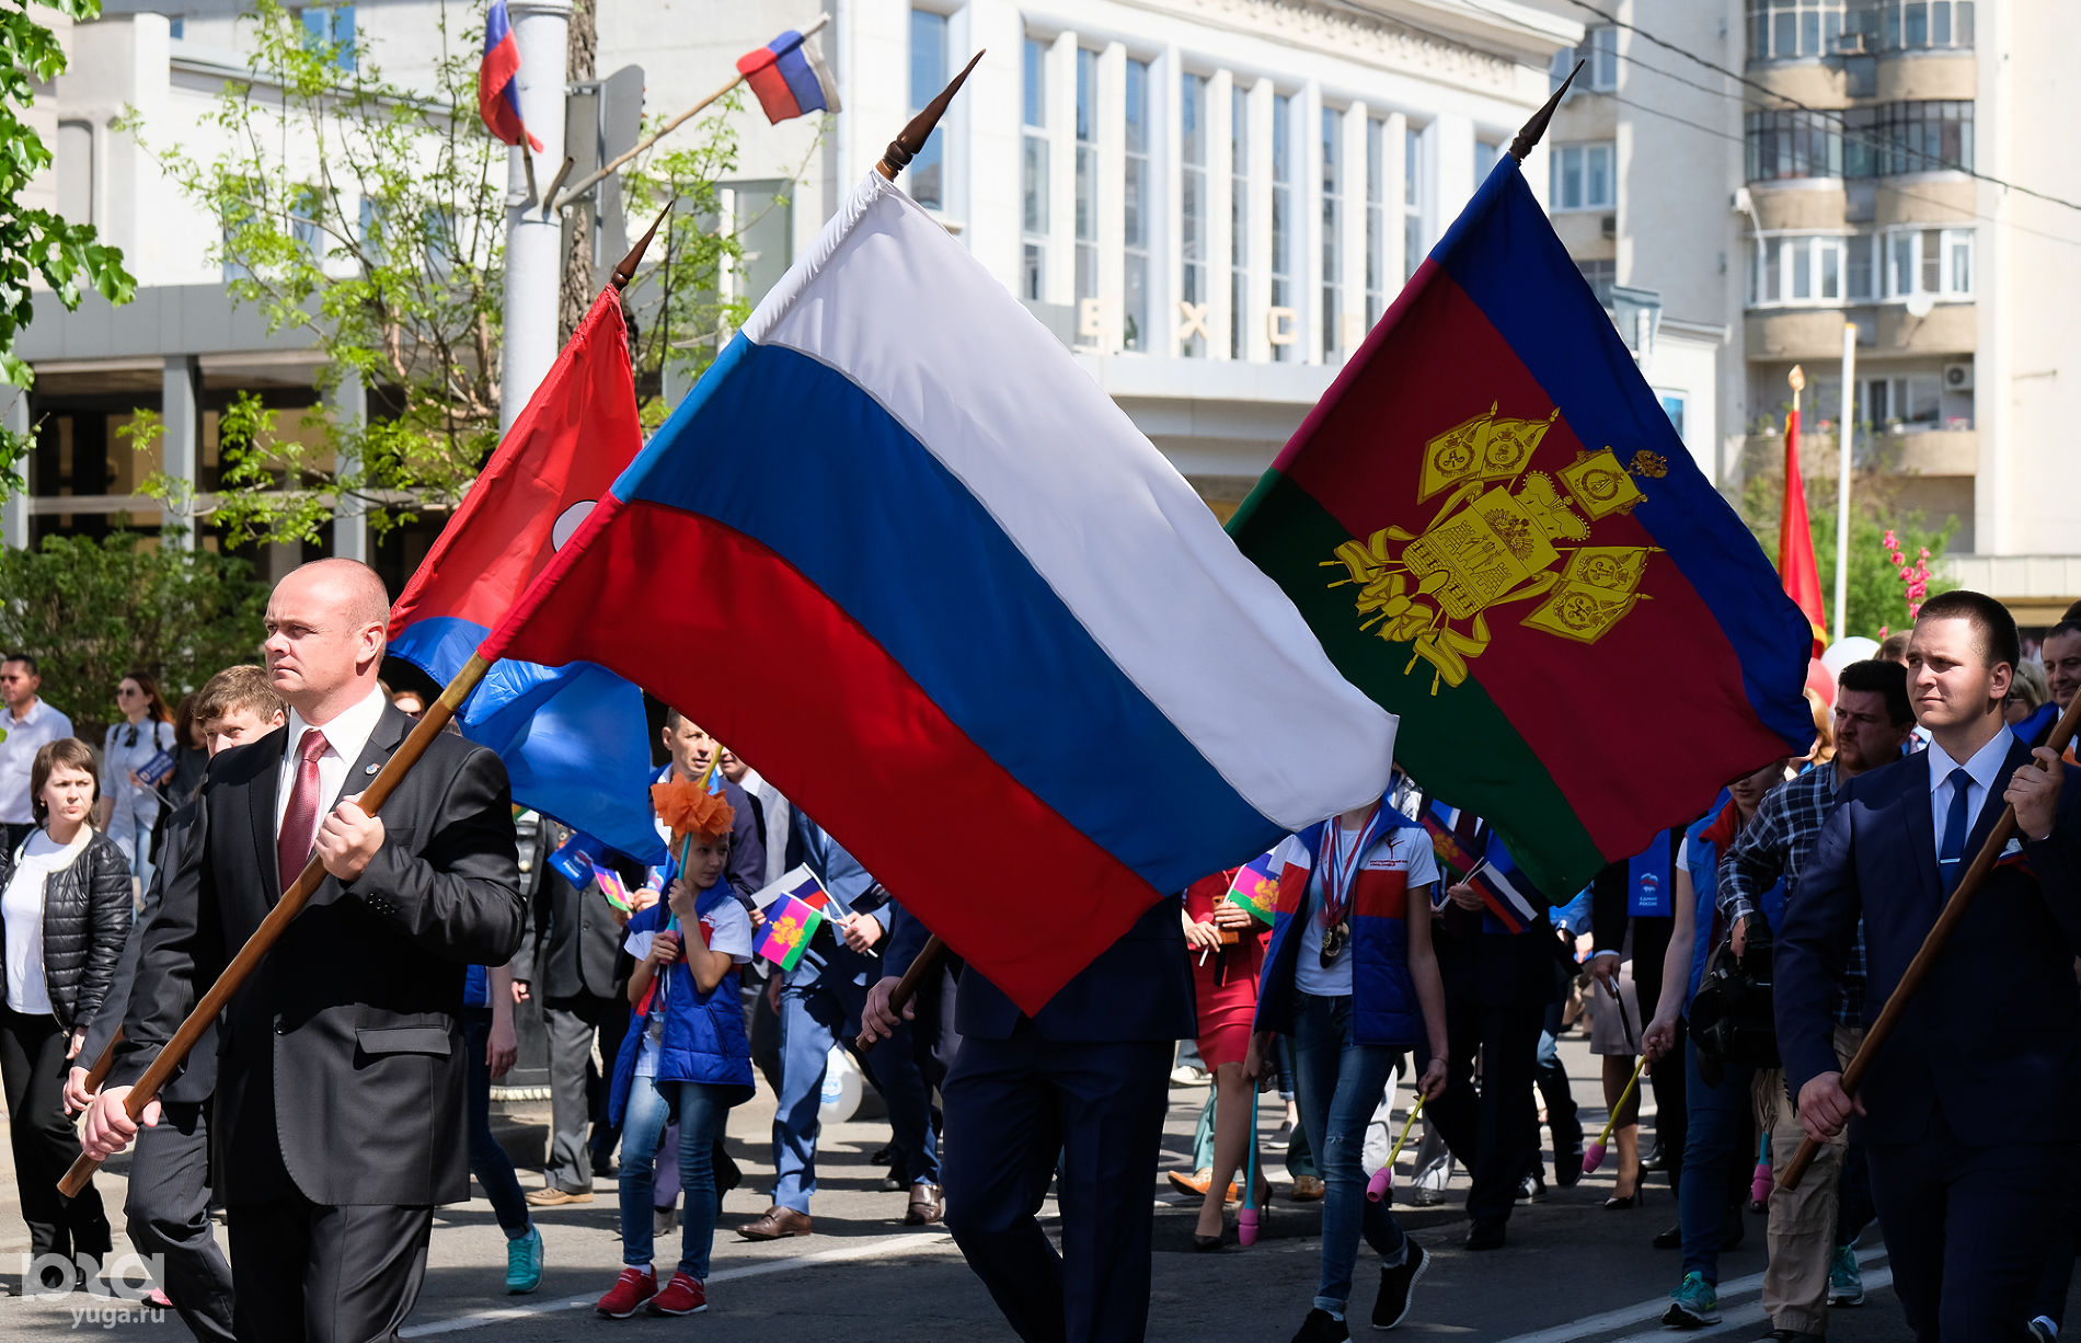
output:
[[[123,1101],[204,987],[314,854],[327,881],[221,1027],[216,1129],[250,1343],[395,1339],[427,1268],[433,1206],[468,1197],[462,981],[520,945],[506,768],[435,735],[381,816],[356,795],[412,718],[377,681],[389,596],[318,560],[266,610],[289,723],[210,762],[196,829],[146,929],[125,1041],[83,1147],[137,1133]],[[158,1122],[158,1101],[144,1122]]]

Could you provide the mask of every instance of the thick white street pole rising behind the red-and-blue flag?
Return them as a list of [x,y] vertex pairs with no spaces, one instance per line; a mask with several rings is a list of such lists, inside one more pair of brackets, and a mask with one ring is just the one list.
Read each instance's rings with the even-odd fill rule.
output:
[[[564,42],[570,0],[512,0],[514,37],[520,44],[520,121],[541,142],[535,154],[535,185],[547,187],[564,162]],[[512,427],[520,408],[556,362],[556,300],[564,275],[562,223],[543,214],[529,194],[526,144],[506,150],[506,331],[499,377],[499,431]]]

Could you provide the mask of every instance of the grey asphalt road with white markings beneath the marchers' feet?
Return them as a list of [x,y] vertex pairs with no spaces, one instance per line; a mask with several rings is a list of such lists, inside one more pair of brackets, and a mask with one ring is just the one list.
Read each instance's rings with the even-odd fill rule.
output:
[[[1602,1122],[1594,1060],[1577,1033],[1563,1041],[1563,1060],[1577,1079],[1575,1093],[1588,1126]],[[1174,1087],[1165,1129],[1165,1166],[1186,1162],[1192,1120],[1203,1087]],[[1405,1087],[1403,1099],[1409,1099]],[[1269,1135],[1276,1114],[1265,1106]],[[1650,1110],[1652,1114],[1652,1110]],[[849,1122],[826,1131],[820,1158],[816,1235],[776,1243],[749,1243],[730,1233],[766,1208],[770,1181],[768,1126],[772,1097],[762,1095],[733,1112],[730,1149],[747,1181],[724,1208],[716,1237],[708,1314],[691,1320],[601,1320],[591,1301],[608,1289],[620,1264],[612,1181],[601,1181],[595,1201],[545,1210],[539,1224],[547,1241],[547,1274],[526,1297],[504,1293],[504,1237],[491,1206],[443,1208],[435,1220],[427,1287],[406,1337],[458,1337],[547,1341],[595,1337],[683,1337],[680,1331],[728,1333],[787,1343],[859,1343],[876,1339],[945,1339],[986,1343],[1011,1339],[982,1287],[968,1274],[951,1239],[939,1228],[901,1226],[903,1195],[876,1189],[878,1170],[868,1154],[887,1126]],[[1407,1172],[1407,1156],[1405,1156]],[[1151,1339],[1253,1339],[1284,1341],[1307,1314],[1315,1285],[1319,1203],[1286,1199],[1284,1172],[1271,1168],[1276,1199],[1269,1233],[1253,1249],[1192,1253],[1192,1208],[1151,1185],[1157,1199],[1155,1295]],[[1401,1335],[1484,1339],[1498,1343],[1586,1343],[1673,1337],[1661,1328],[1665,1295],[1677,1281],[1677,1256],[1648,1247],[1650,1237],[1675,1222],[1675,1201],[1661,1176],[1650,1176],[1650,1197],[1629,1212],[1604,1212],[1611,1172],[1575,1189],[1555,1189],[1540,1206],[1519,1206],[1511,1243],[1490,1253],[1459,1247],[1465,1235],[1465,1176],[1453,1181],[1438,1208],[1398,1208],[1405,1226],[1434,1253],[1415,1310]],[[100,1185],[121,1203],[121,1168]],[[522,1172],[533,1189],[539,1176]],[[0,1283],[17,1285],[27,1237],[12,1206],[12,1179],[0,1193]],[[1053,1214],[1053,1208],[1049,1208]],[[1871,1233],[1867,1241],[1877,1241]],[[121,1249],[121,1241],[119,1241]],[[668,1260],[668,1247],[660,1247]],[[1883,1247],[1867,1247],[1865,1274],[1871,1299],[1860,1310],[1838,1312],[1829,1326],[1835,1343],[1902,1339],[1906,1326],[1887,1287]],[[1763,1218],[1750,1216],[1748,1239],[1721,1260],[1725,1324],[1694,1337],[1756,1339],[1767,1333],[1758,1303],[1763,1274]],[[1373,1266],[1361,1251],[1357,1318],[1371,1306]],[[44,1339],[67,1328],[104,1335],[169,1339],[187,1337],[171,1314],[139,1318],[133,1303],[106,1297],[0,1299],[0,1339]],[[171,1333],[169,1333],[171,1331]],[[1361,1331],[1363,1333],[1363,1331]]]

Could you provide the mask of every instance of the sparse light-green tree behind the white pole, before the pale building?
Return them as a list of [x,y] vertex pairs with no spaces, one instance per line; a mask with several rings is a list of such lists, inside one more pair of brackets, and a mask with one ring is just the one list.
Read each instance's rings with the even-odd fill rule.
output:
[[[233,298],[271,329],[308,333],[327,358],[323,391],[348,377],[368,391],[364,423],[304,416],[293,435],[258,402],[233,406],[210,512],[231,543],[318,539],[341,504],[379,533],[449,508],[497,446],[508,152],[477,117],[481,17],[452,31],[441,4],[435,23],[431,87],[404,87],[364,37],[314,42],[296,10],[256,0],[241,19],[250,65],[281,96],[227,83],[210,115],[223,152],[154,150],[187,198],[225,221],[219,258],[237,277]],[[662,256],[653,244],[653,264],[624,296],[639,387],[660,383],[666,358],[705,366],[712,348],[674,341],[743,319],[718,298],[737,244],[714,212],[716,177],[737,164],[737,106],[718,104],[683,133],[693,148],[633,164],[637,210],[674,196],[691,206],[674,210]],[[135,115],[127,125],[146,131]],[[144,421],[133,446],[154,431]],[[160,498],[177,489],[164,477],[148,485]]]

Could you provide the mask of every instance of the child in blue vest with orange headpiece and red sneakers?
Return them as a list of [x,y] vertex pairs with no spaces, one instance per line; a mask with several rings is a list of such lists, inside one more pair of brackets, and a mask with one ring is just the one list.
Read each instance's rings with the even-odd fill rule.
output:
[[[622,1274],[599,1314],[624,1320],[647,1306],[653,1316],[708,1310],[708,1253],[716,1239],[714,1145],[730,1106],[751,1099],[751,1043],[737,999],[737,966],[751,960],[751,916],[722,883],[730,852],[730,808],[720,829],[691,835],[687,870],[666,899],[628,920],[626,949],[635,1008],[608,1120],[622,1126]],[[678,1122],[678,1179],[687,1191],[678,1270],[658,1291],[651,1268],[658,1139]]]

